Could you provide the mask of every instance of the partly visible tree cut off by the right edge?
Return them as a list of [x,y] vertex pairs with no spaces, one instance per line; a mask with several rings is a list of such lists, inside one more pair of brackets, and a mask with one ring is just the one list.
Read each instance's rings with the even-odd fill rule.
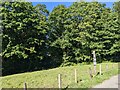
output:
[[[119,54],[120,54],[120,1],[114,2],[113,4],[113,13],[111,15],[112,22],[112,33],[114,37],[114,42],[111,47],[110,55],[113,61],[119,61]],[[114,27],[114,29],[113,29]]]

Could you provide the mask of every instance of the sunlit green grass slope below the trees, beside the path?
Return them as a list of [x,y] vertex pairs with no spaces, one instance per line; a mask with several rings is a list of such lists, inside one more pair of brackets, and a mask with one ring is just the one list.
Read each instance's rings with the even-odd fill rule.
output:
[[[67,86],[68,88],[90,88],[118,74],[118,63],[114,63],[114,68],[112,68],[112,64],[108,63],[109,71],[106,72],[106,63],[102,63],[103,74],[94,75],[92,79],[88,73],[89,67],[93,68],[92,64],[21,73],[4,76],[0,79],[2,79],[2,88],[23,88],[25,82],[28,88],[58,88],[58,74],[61,74],[63,88]],[[75,69],[78,83],[75,83],[74,80]],[[97,64],[97,72],[99,72],[99,64]]]

